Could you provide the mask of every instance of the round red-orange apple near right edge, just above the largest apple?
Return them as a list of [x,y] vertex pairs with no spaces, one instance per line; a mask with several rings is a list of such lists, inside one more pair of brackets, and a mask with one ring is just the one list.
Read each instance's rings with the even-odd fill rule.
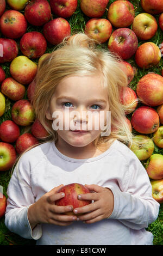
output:
[[145,42],[137,48],[135,53],[135,62],[142,69],[158,65],[160,59],[160,49],[154,42]]

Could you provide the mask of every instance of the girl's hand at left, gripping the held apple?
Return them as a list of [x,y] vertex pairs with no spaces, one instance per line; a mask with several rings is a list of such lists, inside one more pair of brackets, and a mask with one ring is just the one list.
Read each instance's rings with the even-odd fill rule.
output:
[[65,194],[56,193],[60,187],[54,187],[51,191],[44,194],[37,202],[30,205],[28,208],[28,220],[32,229],[38,223],[51,223],[55,225],[66,226],[72,221],[77,220],[76,216],[66,215],[65,212],[73,211],[72,205],[58,206],[55,201],[64,197]]

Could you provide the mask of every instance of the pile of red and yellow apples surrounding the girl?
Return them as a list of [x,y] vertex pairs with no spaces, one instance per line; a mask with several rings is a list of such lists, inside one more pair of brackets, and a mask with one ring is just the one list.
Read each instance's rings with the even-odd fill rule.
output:
[[[158,27],[163,31],[163,1],[141,0],[140,4],[144,12],[136,16],[136,8],[129,1],[110,4],[109,0],[0,0],[0,117],[8,111],[7,100],[14,102],[11,118],[0,121],[0,171],[10,169],[17,155],[48,136],[30,103],[34,94],[33,80],[41,61],[49,54],[47,44],[58,45],[65,36],[71,35],[66,19],[79,7],[90,18],[85,23],[84,33],[96,39],[97,44],[107,42],[108,50],[123,60],[128,87],[121,90],[120,101],[126,106],[130,130],[139,133],[134,139],[147,142],[146,147],[139,148],[133,143],[131,150],[140,161],[146,161],[153,197],[163,202],[163,155],[153,154],[154,143],[163,148],[163,70],[160,70],[161,75],[149,72],[143,76],[135,92],[129,84],[136,75],[136,68],[127,62],[134,57],[137,68],[144,70],[159,65],[163,41],[158,42],[158,46],[150,40]],[[103,19],[106,11],[107,19]],[[53,19],[53,15],[57,17]],[[155,15],[159,15],[159,22]],[[28,25],[39,27],[42,33],[27,32]],[[144,41],[140,46],[139,40]],[[2,68],[7,63],[9,76]],[[24,99],[26,92],[28,99]],[[142,106],[137,107],[139,102]],[[24,126],[30,126],[30,131],[21,134]],[[153,138],[147,136],[151,134]]]

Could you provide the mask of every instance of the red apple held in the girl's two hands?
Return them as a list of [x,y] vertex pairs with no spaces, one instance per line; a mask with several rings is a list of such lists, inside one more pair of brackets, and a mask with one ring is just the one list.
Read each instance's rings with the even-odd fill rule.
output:
[[[90,193],[90,190],[85,187],[82,184],[79,183],[71,183],[65,186],[62,186],[57,193],[64,192],[65,197],[62,197],[61,199],[55,201],[55,205],[58,206],[66,206],[66,205],[72,205],[73,209],[82,207],[88,204],[91,204],[91,200],[79,200],[78,194],[85,194]],[[75,215],[74,212],[65,212],[66,215]],[[81,214],[80,214],[81,215]],[[78,214],[77,214],[78,216]]]

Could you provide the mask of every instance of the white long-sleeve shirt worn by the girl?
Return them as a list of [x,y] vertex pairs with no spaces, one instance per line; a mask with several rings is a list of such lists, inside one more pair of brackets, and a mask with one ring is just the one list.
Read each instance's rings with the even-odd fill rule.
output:
[[[32,230],[27,211],[43,194],[60,184],[97,184],[114,194],[109,218],[66,227],[40,223]],[[156,220],[160,204],[152,197],[146,169],[126,145],[115,140],[101,155],[90,159],[65,156],[46,142],[25,153],[8,185],[5,225],[36,245],[152,245],[147,231]]]

